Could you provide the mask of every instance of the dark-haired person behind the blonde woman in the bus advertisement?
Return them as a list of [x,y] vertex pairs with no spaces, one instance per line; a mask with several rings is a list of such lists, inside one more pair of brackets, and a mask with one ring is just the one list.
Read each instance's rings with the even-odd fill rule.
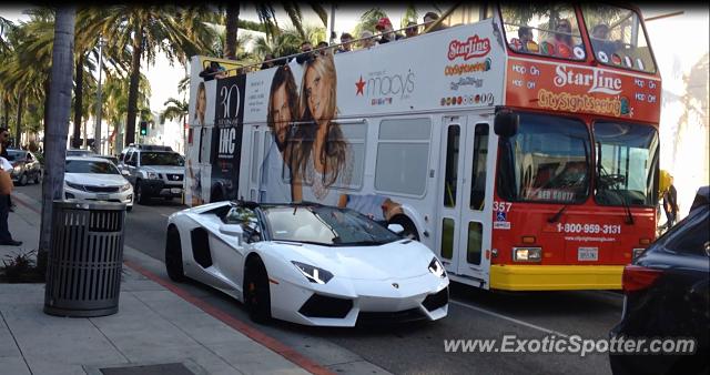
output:
[[[291,201],[291,190],[284,183],[288,169],[284,165],[288,126],[298,118],[298,88],[291,67],[281,65],[274,72],[268,92],[266,124],[273,134],[273,142],[262,164],[261,202],[285,203]],[[290,153],[288,153],[290,154]]]

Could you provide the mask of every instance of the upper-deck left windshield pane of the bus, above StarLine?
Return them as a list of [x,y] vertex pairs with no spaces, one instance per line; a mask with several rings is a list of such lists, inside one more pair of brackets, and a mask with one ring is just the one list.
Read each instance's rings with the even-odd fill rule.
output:
[[506,40],[511,50],[568,60],[585,60],[575,8],[570,4],[501,4]]

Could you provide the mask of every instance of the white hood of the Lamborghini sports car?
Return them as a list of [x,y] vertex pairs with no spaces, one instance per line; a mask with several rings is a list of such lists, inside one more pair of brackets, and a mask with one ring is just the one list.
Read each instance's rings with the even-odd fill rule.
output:
[[409,278],[428,273],[434,253],[416,241],[396,241],[378,246],[320,246],[272,242],[282,259],[306,263],[354,280]]

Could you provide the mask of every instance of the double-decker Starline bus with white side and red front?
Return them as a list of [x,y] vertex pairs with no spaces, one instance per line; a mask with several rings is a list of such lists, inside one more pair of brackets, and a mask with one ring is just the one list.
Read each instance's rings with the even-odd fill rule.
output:
[[194,58],[187,202],[348,206],[400,224],[462,283],[620,288],[656,230],[661,81],[640,13],[476,14],[209,81]]

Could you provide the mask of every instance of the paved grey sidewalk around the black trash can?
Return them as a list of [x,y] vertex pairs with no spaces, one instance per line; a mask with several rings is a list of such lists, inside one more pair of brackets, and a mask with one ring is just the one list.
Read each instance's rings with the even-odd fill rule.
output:
[[[16,202],[10,232],[23,244],[0,246],[0,259],[38,245],[40,214]],[[0,374],[307,374],[307,363],[290,362],[135,267],[123,267],[119,312],[102,317],[47,315],[44,284],[0,284]],[[144,367],[116,368],[129,366]]]

